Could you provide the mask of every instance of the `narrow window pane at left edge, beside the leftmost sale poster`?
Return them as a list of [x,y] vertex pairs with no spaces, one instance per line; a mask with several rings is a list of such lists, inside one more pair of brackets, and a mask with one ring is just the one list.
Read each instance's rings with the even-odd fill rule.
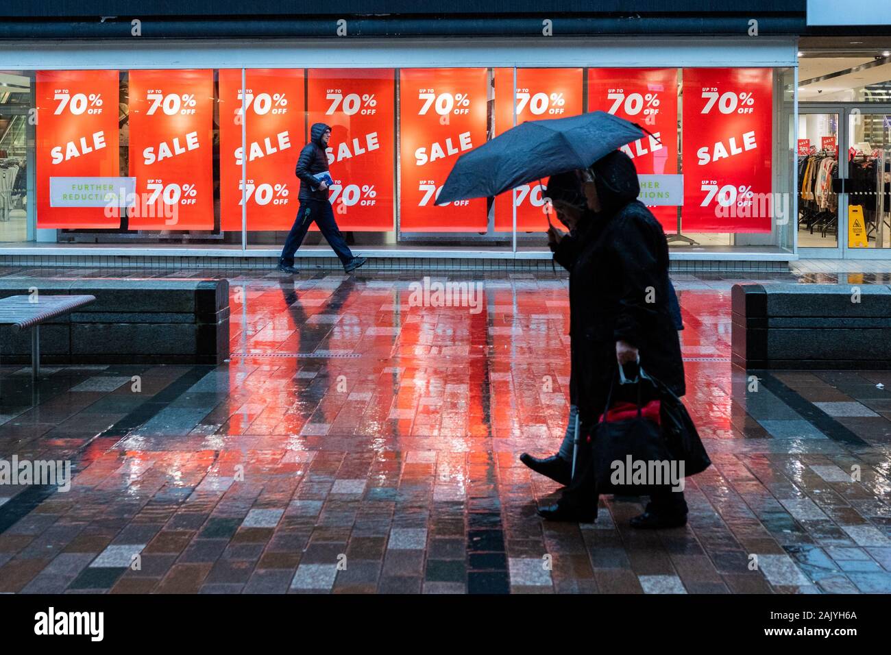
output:
[[0,70],[0,242],[28,239],[29,152],[33,143],[33,76]]

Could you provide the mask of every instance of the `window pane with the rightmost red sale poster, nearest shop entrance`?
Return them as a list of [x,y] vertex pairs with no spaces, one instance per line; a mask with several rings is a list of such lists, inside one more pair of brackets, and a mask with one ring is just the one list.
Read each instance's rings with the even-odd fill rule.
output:
[[684,69],[676,250],[792,248],[794,70]]

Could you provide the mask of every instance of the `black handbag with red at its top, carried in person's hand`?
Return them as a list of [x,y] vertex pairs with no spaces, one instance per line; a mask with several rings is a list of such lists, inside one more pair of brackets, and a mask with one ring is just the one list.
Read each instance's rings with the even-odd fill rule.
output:
[[680,479],[662,430],[642,415],[641,385],[648,383],[644,376],[642,373],[636,382],[637,415],[621,421],[607,420],[616,386],[613,379],[601,421],[591,432],[599,494],[650,495],[673,487]]

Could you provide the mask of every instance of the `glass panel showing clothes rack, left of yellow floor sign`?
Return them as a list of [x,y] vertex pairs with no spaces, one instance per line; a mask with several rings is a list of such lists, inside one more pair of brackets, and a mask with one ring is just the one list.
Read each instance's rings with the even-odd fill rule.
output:
[[838,114],[798,116],[798,248],[838,247]]

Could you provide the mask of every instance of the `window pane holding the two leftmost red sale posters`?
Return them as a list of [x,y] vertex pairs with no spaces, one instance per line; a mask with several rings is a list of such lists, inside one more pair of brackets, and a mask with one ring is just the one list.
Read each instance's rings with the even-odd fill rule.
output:
[[228,245],[217,71],[37,71],[37,227],[61,243]]

